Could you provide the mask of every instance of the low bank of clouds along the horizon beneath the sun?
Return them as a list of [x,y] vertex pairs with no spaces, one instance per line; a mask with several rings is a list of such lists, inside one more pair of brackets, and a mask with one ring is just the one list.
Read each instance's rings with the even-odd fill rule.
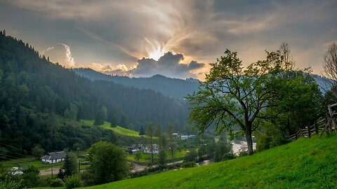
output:
[[44,51],[43,55],[49,57],[51,62],[65,66],[66,68],[88,67],[95,71],[100,71],[109,75],[147,77],[156,74],[171,78],[197,78],[195,71],[204,68],[204,63],[192,60],[190,63],[183,63],[184,55],[176,52],[165,52],[158,60],[143,57],[138,59],[133,66],[127,67],[125,64],[100,64],[93,62],[89,65],[75,64],[70,47],[64,43],[58,43]]

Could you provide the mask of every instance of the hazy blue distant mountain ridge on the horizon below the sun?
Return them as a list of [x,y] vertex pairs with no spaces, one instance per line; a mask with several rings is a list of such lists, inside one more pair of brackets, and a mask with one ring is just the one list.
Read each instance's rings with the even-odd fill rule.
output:
[[178,99],[183,99],[187,94],[192,94],[198,90],[199,86],[199,81],[193,78],[183,80],[167,78],[161,75],[154,75],[150,78],[129,78],[128,76],[109,76],[92,69],[74,69],[74,71],[79,76],[84,76],[91,80],[110,80],[128,87],[155,90]]

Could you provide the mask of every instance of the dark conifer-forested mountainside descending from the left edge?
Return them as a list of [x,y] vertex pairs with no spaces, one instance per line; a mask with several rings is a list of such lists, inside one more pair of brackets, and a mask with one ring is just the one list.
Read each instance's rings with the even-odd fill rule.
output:
[[[18,151],[87,146],[105,136],[76,120],[104,118],[139,130],[147,123],[185,127],[188,104],[153,90],[89,80],[49,62],[21,40],[0,33],[0,143]],[[72,121],[74,123],[72,123]],[[113,139],[111,139],[113,140]],[[90,145],[90,144],[89,144]]]

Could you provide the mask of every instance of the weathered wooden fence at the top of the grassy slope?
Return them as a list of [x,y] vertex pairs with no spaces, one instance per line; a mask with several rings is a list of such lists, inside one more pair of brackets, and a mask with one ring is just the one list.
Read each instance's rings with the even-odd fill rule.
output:
[[319,132],[337,132],[337,113],[333,111],[334,107],[337,107],[337,104],[328,105],[329,113],[326,113],[325,118],[317,120],[314,125],[299,129],[296,134],[290,135],[288,139],[296,140],[300,137],[310,138],[314,134],[319,134]]

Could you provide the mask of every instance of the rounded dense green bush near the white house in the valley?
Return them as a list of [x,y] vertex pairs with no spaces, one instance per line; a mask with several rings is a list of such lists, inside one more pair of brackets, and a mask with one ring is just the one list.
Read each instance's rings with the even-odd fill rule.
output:
[[127,178],[129,170],[123,149],[100,141],[89,148],[88,154],[91,162],[88,173],[95,184]]

